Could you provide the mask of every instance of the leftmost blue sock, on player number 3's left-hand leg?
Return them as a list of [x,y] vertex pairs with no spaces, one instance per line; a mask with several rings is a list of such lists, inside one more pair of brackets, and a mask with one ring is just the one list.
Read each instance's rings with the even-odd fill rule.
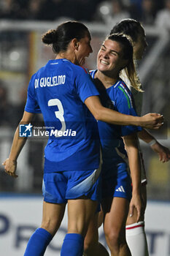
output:
[[26,246],[24,256],[43,256],[53,236],[43,228],[37,228]]

